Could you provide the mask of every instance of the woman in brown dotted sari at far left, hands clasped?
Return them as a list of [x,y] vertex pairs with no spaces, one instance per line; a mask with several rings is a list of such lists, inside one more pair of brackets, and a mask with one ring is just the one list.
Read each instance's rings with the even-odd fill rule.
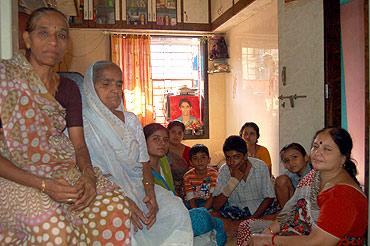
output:
[[23,38],[27,58],[0,61],[0,245],[130,245],[128,202],[92,168],[82,126],[71,123],[78,88],[53,71],[67,19],[35,10]]

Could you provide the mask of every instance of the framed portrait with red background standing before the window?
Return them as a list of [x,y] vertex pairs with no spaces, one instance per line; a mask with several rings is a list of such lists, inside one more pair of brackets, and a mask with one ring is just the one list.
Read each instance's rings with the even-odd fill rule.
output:
[[203,135],[201,102],[199,96],[169,96],[168,116],[171,121],[178,120],[185,125],[185,135]]

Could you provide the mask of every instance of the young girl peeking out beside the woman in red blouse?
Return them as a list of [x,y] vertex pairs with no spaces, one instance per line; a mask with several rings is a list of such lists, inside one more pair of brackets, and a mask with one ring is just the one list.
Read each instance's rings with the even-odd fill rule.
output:
[[298,143],[291,143],[280,150],[280,158],[287,169],[285,174],[275,180],[276,199],[281,208],[293,196],[299,181],[311,171],[306,150]]

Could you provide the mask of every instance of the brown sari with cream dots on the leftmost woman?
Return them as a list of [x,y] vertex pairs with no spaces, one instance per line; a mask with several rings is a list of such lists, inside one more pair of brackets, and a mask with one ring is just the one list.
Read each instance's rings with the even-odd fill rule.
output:
[[[0,115],[3,158],[40,177],[78,182],[74,148],[63,134],[65,109],[23,55],[0,61]],[[79,213],[37,189],[0,178],[0,245],[130,245],[128,202],[98,169],[96,176],[96,199]]]

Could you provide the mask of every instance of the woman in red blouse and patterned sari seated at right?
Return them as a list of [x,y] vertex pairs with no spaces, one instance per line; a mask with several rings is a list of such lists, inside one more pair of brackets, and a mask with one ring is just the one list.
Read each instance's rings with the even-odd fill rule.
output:
[[270,222],[262,234],[251,234],[258,232],[260,221],[241,223],[237,244],[363,245],[368,205],[351,150],[346,130],[318,131],[311,148],[314,170],[300,181],[277,221]]

